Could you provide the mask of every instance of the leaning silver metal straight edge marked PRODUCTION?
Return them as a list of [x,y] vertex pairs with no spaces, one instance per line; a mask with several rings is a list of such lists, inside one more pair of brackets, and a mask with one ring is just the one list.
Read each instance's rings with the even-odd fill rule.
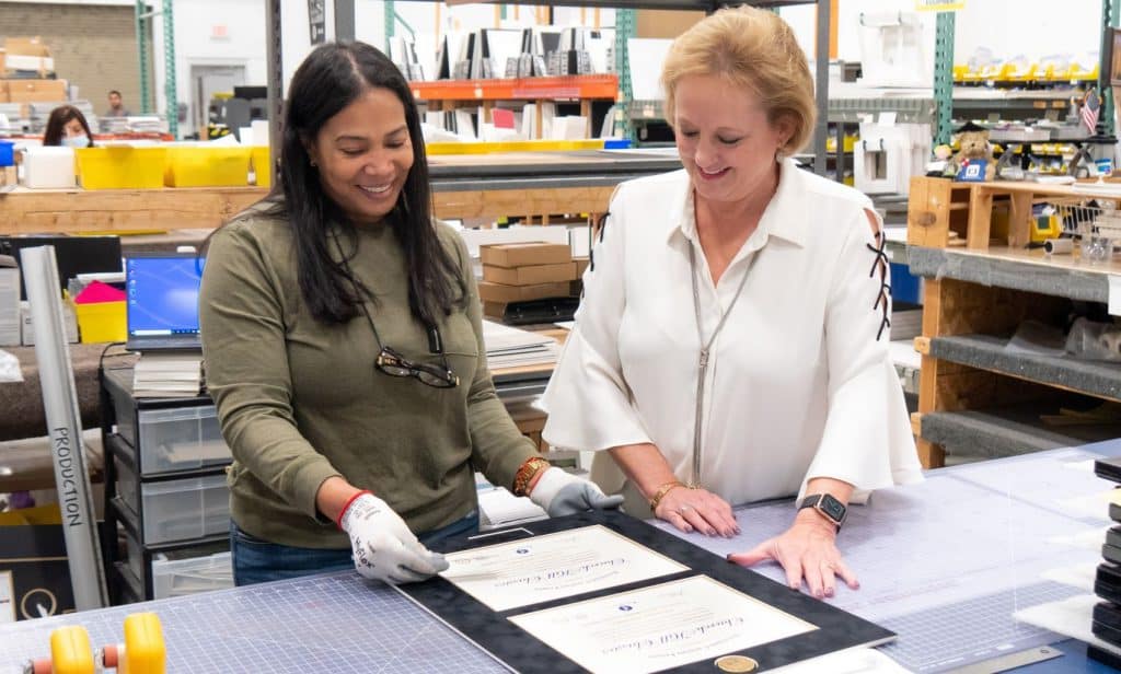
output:
[[35,357],[39,365],[74,606],[80,611],[101,608],[108,605],[109,595],[94,522],[90,474],[85,467],[77,390],[66,345],[55,249],[24,249],[20,259],[31,306]]

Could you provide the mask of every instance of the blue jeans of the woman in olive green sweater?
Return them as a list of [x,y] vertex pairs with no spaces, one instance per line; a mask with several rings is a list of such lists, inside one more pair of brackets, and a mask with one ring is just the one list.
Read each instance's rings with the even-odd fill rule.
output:
[[[430,547],[445,539],[479,531],[479,513],[472,512],[447,526],[417,536]],[[269,543],[241,531],[230,521],[230,552],[233,556],[233,584],[250,586],[258,582],[299,578],[328,571],[353,569],[350,549],[319,550]]]

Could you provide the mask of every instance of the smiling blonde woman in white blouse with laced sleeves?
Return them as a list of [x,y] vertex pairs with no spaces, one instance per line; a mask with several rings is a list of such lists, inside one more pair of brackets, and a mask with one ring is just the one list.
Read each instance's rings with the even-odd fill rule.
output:
[[775,561],[817,597],[835,577],[855,588],[830,514],[921,477],[888,350],[880,218],[791,158],[813,133],[814,84],[777,15],[705,18],[661,82],[684,169],[613,197],[544,437],[609,450],[593,479],[684,532],[750,533],[732,505],[805,496],[785,533],[729,559]]

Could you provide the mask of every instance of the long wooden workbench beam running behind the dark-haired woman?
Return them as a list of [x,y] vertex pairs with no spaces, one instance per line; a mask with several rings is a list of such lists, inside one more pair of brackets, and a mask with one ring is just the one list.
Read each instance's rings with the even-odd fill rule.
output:
[[[595,214],[615,185],[679,167],[637,152],[524,152],[429,158],[441,218]],[[262,187],[0,193],[0,234],[214,228],[262,198]]]

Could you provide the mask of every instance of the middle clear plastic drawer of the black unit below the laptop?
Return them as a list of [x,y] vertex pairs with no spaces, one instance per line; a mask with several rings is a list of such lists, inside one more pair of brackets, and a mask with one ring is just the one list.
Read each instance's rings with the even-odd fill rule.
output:
[[143,542],[189,541],[230,531],[225,475],[140,485]]

